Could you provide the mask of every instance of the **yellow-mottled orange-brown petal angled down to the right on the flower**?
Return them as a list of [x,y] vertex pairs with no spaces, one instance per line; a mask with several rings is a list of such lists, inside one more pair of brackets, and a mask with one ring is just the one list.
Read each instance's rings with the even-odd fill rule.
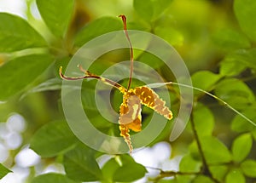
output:
[[166,106],[166,102],[160,99],[159,95],[156,94],[153,89],[143,86],[130,89],[129,92],[136,94],[143,105],[148,106],[169,120],[172,119],[172,112]]

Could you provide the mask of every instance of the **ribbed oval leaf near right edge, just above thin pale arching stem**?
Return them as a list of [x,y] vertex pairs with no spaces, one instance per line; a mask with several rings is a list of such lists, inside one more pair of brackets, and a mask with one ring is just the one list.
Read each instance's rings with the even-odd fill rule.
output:
[[219,82],[215,94],[236,109],[246,109],[255,101],[252,90],[236,78],[227,78]]

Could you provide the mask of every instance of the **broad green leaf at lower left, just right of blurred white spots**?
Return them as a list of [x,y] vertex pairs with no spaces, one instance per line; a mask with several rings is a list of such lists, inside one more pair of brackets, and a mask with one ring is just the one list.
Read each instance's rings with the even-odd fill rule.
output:
[[45,124],[31,140],[31,148],[41,157],[55,157],[76,146],[78,140],[69,129],[67,122],[58,121]]

